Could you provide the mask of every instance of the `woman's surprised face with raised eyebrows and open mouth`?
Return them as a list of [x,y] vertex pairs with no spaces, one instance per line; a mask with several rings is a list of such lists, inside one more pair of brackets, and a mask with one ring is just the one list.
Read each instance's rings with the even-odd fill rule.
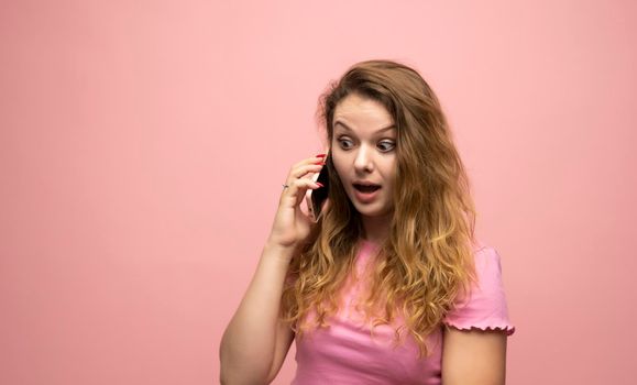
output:
[[351,94],[337,105],[332,127],[332,162],[348,197],[363,218],[391,215],[396,175],[392,116],[380,102]]

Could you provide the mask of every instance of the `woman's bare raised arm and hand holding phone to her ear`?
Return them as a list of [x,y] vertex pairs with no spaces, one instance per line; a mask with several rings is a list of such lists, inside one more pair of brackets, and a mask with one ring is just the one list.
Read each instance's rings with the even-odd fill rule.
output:
[[320,172],[323,156],[289,170],[256,272],[221,339],[222,384],[270,383],[285,360],[294,332],[279,320],[281,297],[289,262],[312,226],[300,204],[308,189],[322,187],[306,175]]

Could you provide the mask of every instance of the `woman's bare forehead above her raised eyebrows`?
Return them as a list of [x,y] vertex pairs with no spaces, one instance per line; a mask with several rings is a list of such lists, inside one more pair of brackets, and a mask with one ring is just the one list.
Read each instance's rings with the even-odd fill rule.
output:
[[353,129],[378,129],[392,125],[394,119],[381,102],[352,94],[337,105],[332,124],[343,128],[338,122]]

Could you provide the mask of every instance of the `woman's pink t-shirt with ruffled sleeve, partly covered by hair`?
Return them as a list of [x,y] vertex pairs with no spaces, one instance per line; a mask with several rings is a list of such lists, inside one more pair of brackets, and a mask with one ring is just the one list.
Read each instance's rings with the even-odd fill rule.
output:
[[[362,276],[377,245],[362,241],[356,256],[356,274]],[[499,255],[493,248],[474,252],[479,284],[469,301],[461,301],[443,320],[457,329],[498,329],[510,336],[502,284]],[[371,326],[355,305],[365,282],[350,279],[343,289],[340,311],[328,328],[314,329],[296,339],[297,372],[293,385],[323,384],[440,384],[442,326],[427,339],[431,355],[418,359],[418,345],[407,333],[396,346],[394,326]],[[312,319],[310,315],[308,319]],[[400,322],[400,319],[396,320]]]

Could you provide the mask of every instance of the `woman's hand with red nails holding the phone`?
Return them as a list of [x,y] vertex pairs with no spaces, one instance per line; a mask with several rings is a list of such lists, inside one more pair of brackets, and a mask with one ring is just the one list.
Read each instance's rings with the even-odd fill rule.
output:
[[300,210],[300,202],[305,199],[306,191],[321,188],[307,175],[320,172],[325,165],[325,154],[319,154],[300,161],[292,166],[278,201],[278,210],[274,218],[268,242],[271,244],[295,249],[299,242],[309,235],[312,220]]

